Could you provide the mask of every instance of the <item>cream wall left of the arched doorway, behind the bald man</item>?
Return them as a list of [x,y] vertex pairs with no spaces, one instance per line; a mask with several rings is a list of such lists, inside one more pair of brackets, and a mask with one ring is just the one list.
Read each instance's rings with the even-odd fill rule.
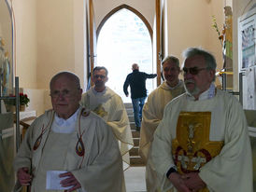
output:
[[[16,75],[37,115],[50,108],[49,81],[59,71],[84,76],[84,1],[13,1]],[[84,82],[81,80],[83,86]],[[42,100],[44,98],[44,100]]]

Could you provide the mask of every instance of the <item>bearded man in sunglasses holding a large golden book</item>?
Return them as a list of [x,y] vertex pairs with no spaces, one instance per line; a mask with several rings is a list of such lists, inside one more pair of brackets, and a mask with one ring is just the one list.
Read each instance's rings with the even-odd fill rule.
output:
[[152,159],[161,191],[252,192],[252,158],[242,106],[214,86],[216,61],[184,52],[186,92],[168,103],[154,133]]

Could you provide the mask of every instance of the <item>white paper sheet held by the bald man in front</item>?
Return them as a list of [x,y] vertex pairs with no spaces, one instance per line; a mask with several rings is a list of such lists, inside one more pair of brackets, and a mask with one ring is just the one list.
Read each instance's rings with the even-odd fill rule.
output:
[[47,190],[64,190],[69,189],[71,186],[63,187],[60,183],[66,177],[59,177],[59,174],[66,171],[47,171],[46,176],[46,189]]

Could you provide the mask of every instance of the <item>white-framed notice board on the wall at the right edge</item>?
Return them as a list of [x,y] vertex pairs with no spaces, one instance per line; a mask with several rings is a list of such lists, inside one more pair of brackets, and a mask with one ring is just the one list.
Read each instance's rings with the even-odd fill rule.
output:
[[[238,19],[238,69],[243,108],[256,111],[256,7]],[[240,86],[240,85],[239,85]]]

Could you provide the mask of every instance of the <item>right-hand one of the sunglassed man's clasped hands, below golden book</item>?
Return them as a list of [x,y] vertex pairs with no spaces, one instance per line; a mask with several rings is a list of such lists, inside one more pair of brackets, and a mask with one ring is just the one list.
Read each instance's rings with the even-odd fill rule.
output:
[[191,172],[182,176],[185,178],[185,185],[192,189],[192,192],[196,192],[201,188],[206,187],[205,182],[200,178],[198,172]]

